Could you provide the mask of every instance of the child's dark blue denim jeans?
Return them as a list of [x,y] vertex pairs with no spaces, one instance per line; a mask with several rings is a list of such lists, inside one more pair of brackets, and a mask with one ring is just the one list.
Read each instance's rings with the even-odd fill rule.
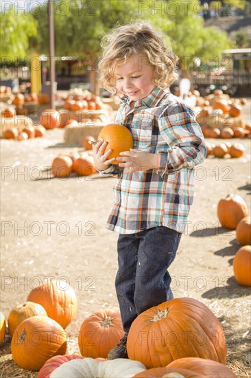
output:
[[125,334],[140,313],[174,298],[167,268],[174,261],[180,236],[164,226],[119,234],[115,287]]

